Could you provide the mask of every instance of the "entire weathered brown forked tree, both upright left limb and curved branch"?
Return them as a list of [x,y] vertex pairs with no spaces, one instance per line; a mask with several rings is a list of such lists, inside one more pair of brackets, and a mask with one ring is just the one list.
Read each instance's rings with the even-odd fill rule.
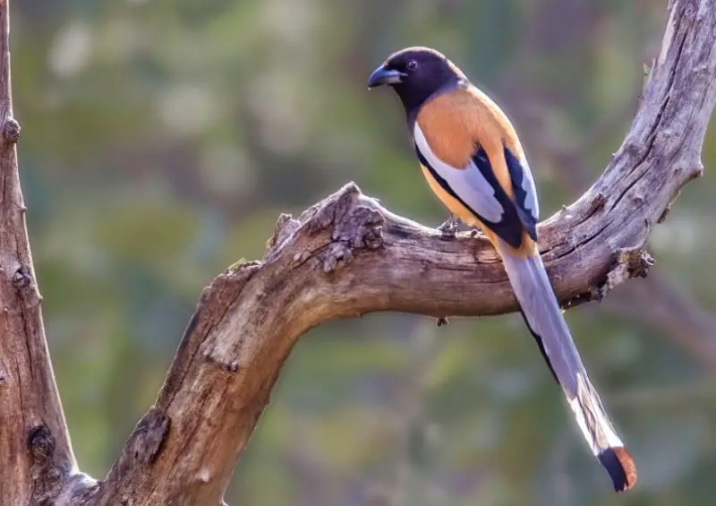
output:
[[[375,311],[436,317],[516,310],[482,236],[442,237],[355,184],[282,215],[260,262],[200,297],[154,407],[107,477],[76,470],[39,311],[18,183],[2,4],[0,109],[0,503],[219,504],[281,365],[321,322]],[[652,259],[642,249],[679,190],[701,176],[716,102],[716,0],[672,0],[634,122],[601,178],[541,223],[540,249],[566,306],[601,299]]]

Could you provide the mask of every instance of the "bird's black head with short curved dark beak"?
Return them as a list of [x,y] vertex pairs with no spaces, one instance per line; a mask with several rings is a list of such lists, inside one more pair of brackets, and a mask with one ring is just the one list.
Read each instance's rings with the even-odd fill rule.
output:
[[465,80],[465,74],[438,51],[429,47],[408,47],[388,56],[371,74],[369,88],[388,84],[412,116],[435,91]]

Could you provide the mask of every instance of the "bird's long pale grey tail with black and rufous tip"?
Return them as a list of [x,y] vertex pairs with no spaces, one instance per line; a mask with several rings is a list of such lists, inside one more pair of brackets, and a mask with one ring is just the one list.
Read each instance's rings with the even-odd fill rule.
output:
[[498,250],[524,321],[564,390],[579,428],[594,455],[609,473],[614,489],[625,491],[636,481],[634,461],[626,452],[624,443],[601,406],[597,390],[587,377],[539,253],[522,257],[502,242],[498,244]]

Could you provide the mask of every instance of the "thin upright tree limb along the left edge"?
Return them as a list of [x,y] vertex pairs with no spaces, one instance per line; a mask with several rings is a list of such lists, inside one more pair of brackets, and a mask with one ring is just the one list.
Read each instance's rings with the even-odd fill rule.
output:
[[75,477],[25,227],[10,92],[8,1],[0,0],[0,504],[39,504]]

